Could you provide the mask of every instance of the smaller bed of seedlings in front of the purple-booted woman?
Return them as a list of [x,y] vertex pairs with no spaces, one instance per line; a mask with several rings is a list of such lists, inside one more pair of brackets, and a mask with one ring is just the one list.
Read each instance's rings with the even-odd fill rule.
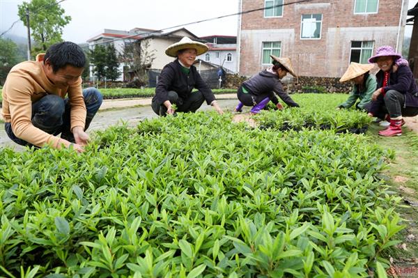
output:
[[[301,130],[314,128],[364,134],[371,118],[363,111],[351,109],[337,110],[347,95],[341,94],[303,94],[292,95],[300,108],[284,109],[280,113],[263,111],[255,118],[259,128],[274,130]],[[271,102],[269,104],[271,106]]]

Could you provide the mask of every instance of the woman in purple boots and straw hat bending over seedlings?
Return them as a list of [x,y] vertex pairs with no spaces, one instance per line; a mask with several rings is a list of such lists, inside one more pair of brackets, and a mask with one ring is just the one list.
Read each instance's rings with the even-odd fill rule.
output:
[[279,58],[274,55],[272,57],[272,66],[267,70],[259,72],[258,75],[251,77],[251,79],[242,83],[238,88],[238,106],[235,111],[242,111],[242,107],[252,106],[250,113],[258,114],[261,109],[271,100],[278,109],[283,109],[283,106],[277,100],[277,93],[281,100],[283,100],[290,107],[299,107],[299,105],[292,100],[292,98],[283,90],[281,81],[283,77],[289,72],[296,76],[291,65],[291,59],[286,57]]

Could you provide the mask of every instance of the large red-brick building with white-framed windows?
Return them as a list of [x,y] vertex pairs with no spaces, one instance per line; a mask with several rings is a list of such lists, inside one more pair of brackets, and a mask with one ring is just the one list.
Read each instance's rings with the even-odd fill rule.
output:
[[[239,0],[238,70],[254,75],[288,56],[298,75],[340,77],[351,61],[367,63],[381,45],[402,51],[405,0]],[[287,6],[281,6],[286,5]]]

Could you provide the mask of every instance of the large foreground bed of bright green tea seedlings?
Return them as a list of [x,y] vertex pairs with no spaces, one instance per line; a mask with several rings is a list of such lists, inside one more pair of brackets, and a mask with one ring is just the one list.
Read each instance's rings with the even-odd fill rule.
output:
[[403,229],[364,135],[178,114],[86,153],[0,150],[6,277],[385,277]]

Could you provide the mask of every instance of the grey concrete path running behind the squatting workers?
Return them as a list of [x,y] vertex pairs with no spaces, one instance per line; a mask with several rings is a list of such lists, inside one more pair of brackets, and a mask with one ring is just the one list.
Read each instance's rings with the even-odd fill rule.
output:
[[[229,95],[220,97],[217,95],[219,106],[226,111],[229,109],[232,111],[237,105],[238,100],[234,99],[224,99],[231,97]],[[151,98],[149,99],[132,99],[132,100],[104,100],[102,107],[98,111],[98,114],[93,118],[90,128],[87,132],[91,133],[94,130],[103,130],[104,128],[109,127],[110,125],[117,125],[118,123],[126,122],[130,126],[137,125],[139,121],[144,120],[145,118],[155,118],[157,115],[151,109],[150,105],[146,105],[147,102],[150,103]],[[107,109],[103,109],[103,105],[106,105]],[[144,105],[144,106],[137,106]],[[210,110],[212,107],[206,105],[206,102],[203,103],[201,108],[198,111]],[[0,148],[5,146],[12,146],[15,150],[22,150],[22,147],[11,141],[5,130],[4,124],[0,123]]]

